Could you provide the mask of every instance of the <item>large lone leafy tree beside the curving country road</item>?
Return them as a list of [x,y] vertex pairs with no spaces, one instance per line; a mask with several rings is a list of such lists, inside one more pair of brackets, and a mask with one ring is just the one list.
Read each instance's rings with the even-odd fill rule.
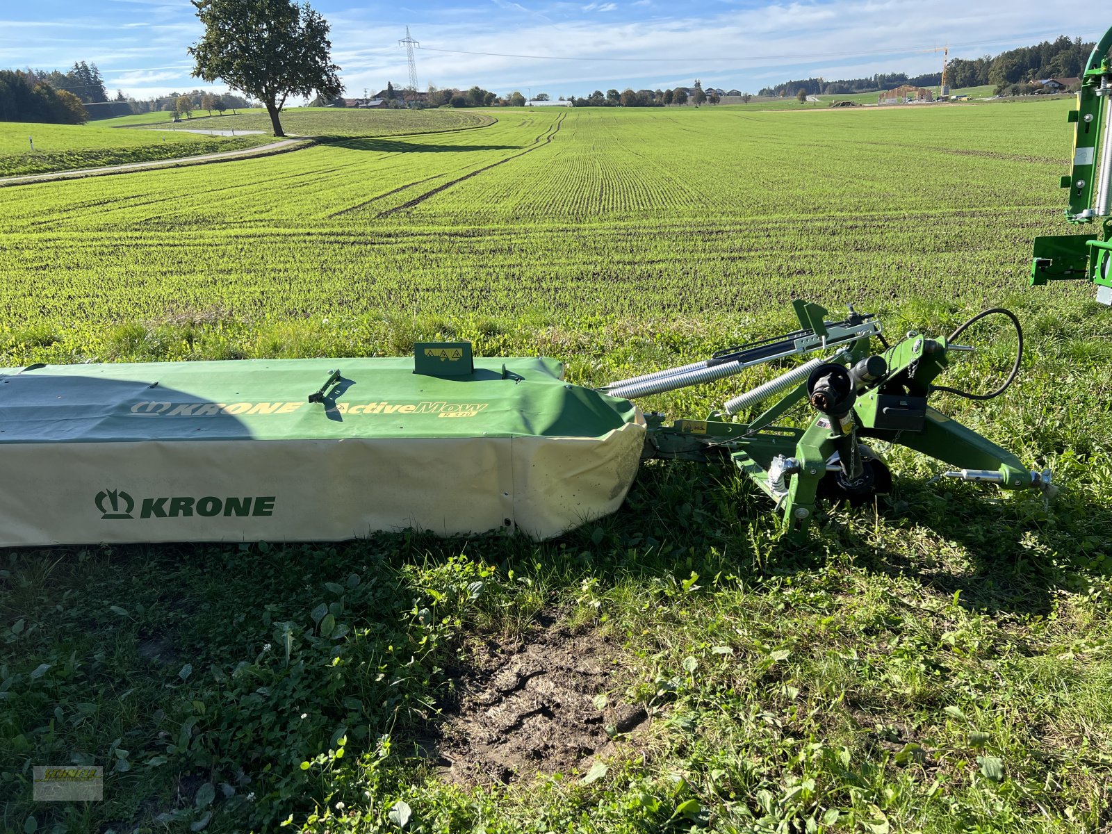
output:
[[331,61],[328,22],[308,3],[292,0],[191,0],[205,34],[189,48],[193,76],[259,99],[275,136],[289,96],[325,98],[344,92]]

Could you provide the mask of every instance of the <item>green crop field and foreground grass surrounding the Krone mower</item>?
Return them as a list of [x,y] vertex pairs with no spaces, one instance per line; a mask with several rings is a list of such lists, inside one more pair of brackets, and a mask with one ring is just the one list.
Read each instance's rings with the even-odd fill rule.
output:
[[[731,471],[652,463],[544,544],[2,553],[3,827],[1108,831],[1112,311],[1025,286],[1068,231],[1068,109],[498,110],[0,190],[0,366],[459,338],[602,385],[790,329],[797,297],[890,335],[1003,305],[1016,385],[934,405],[1062,486],[882,448],[893,494],[797,542]],[[994,388],[1014,337],[963,338],[945,384]],[[698,418],[775,373],[641,405]],[[69,762],[105,802],[32,803]]]

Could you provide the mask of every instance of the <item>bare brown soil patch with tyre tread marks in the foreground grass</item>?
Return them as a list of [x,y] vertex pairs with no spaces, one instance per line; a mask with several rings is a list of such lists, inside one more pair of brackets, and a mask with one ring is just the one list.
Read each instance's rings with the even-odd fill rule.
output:
[[[455,703],[426,745],[441,776],[509,784],[580,771],[585,759],[616,753],[612,739],[648,721],[643,706],[615,693],[624,683],[619,658],[620,648],[597,631],[573,632],[552,616],[519,641],[476,646],[455,671]],[[607,696],[602,708],[598,695]]]

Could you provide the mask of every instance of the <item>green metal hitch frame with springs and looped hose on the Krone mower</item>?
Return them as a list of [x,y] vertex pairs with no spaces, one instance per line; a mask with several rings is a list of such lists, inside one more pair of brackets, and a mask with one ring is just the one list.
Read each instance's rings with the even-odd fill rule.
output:
[[[795,354],[833,348],[830,356],[806,361],[732,398],[722,411],[712,411],[705,420],[681,419],[668,425],[664,415],[646,414],[643,456],[732,461],[772,498],[783,513],[784,526],[795,530],[807,527],[822,499],[858,506],[888,492],[891,473],[866,439],[906,446],[955,467],[940,477],[996,484],[1004,489],[1034,488],[1048,495],[1055,492],[1049,470],[1025,467],[1006,449],[927,405],[935,390],[953,390],[934,385],[946,369],[950,354],[973,349],[953,344],[953,337],[993,312],[1009,316],[1019,330],[1010,312],[993,309],[981,314],[955,330],[951,339],[912,331],[895,345],[882,344],[882,349],[874,351],[872,339],[883,339],[874,316],[851,310],[847,319],[827,322],[823,319],[826,311],[816,305],[797,301],[795,310],[802,330],[731,349],[734,358],[733,365],[727,365],[728,373],[782,358],[788,345],[798,345]],[[827,331],[817,341],[813,338],[818,332],[815,325]],[[1022,348],[1020,331],[1021,355]],[[762,358],[763,354],[767,356]],[[606,390],[628,398],[728,376],[707,376],[715,367],[723,366],[694,363],[614,383]],[[997,396],[1009,387],[1017,368],[1019,361],[1004,386],[991,395],[955,393],[974,399]],[[770,400],[772,405],[765,405]],[[804,403],[813,411],[806,428],[775,425]],[[757,411],[758,406],[764,410]],[[733,419],[741,414],[752,416],[748,421]]]

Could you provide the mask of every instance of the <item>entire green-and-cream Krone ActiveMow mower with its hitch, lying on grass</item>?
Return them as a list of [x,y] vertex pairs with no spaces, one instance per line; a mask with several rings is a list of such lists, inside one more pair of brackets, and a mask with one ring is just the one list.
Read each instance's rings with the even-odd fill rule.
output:
[[[645,458],[721,461],[803,529],[820,499],[891,485],[866,440],[954,467],[945,477],[1051,492],[1009,451],[927,405],[956,351],[873,315],[827,320],[603,388],[552,359],[481,359],[419,342],[413,359],[32,365],[0,369],[0,545],[339,540],[416,528],[549,538],[615,512]],[[1011,384],[974,399],[996,396]],[[706,419],[631,400],[813,355]],[[806,428],[777,426],[810,409]]]

